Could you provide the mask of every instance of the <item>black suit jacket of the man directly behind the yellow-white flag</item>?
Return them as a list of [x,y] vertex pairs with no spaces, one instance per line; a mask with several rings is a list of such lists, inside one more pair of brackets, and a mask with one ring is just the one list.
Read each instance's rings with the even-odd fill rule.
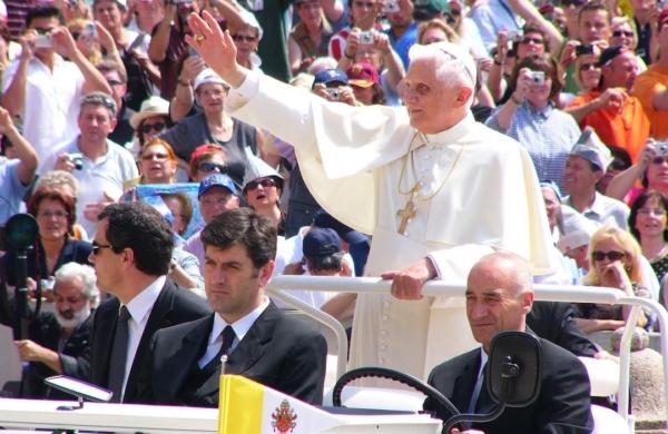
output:
[[[185,404],[181,389],[204,355],[214,316],[159,331],[151,344],[147,403]],[[252,378],[311,404],[322,404],[327,344],[310,324],[285,315],[273,303],[229,354],[226,374]],[[217,406],[219,368],[198,385],[190,405]]]

